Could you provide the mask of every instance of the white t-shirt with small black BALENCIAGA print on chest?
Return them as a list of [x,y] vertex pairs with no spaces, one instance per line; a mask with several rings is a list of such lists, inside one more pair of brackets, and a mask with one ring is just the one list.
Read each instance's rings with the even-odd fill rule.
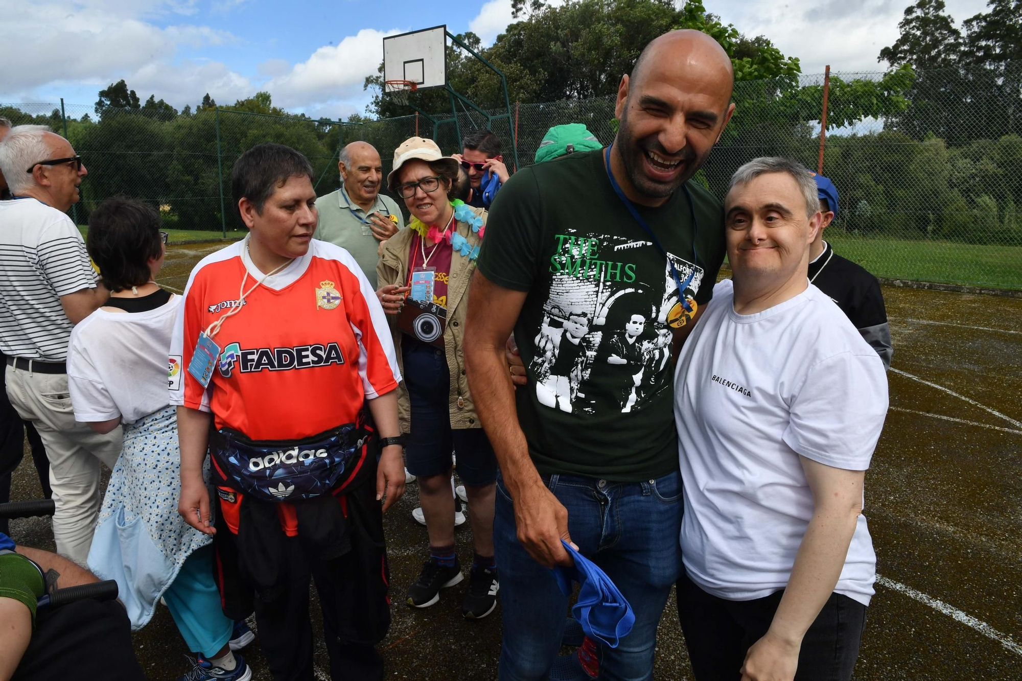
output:
[[[728,600],[787,586],[812,517],[799,455],[866,470],[887,413],[877,353],[809,284],[752,315],[735,312],[730,279],[682,349],[675,422],[685,489],[689,577]],[[858,516],[835,591],[869,605],[876,554]]]

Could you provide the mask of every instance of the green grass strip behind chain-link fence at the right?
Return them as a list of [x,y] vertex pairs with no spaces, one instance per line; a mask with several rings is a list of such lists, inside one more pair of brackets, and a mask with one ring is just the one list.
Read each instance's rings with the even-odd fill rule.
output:
[[825,234],[838,254],[878,277],[1022,289],[1022,246]]

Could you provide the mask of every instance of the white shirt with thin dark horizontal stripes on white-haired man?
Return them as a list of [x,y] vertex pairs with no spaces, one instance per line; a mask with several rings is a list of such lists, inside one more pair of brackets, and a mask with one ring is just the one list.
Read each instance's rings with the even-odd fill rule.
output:
[[74,324],[60,297],[96,286],[85,241],[65,214],[35,198],[0,201],[0,351],[62,362]]

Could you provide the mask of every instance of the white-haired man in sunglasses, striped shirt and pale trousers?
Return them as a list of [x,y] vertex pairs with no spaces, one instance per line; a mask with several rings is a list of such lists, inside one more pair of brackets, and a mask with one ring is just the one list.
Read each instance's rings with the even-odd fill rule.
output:
[[50,460],[57,552],[85,562],[99,510],[99,463],[112,467],[121,428],[75,420],[64,360],[75,324],[107,299],[65,212],[87,174],[71,143],[44,126],[16,126],[0,142],[11,200],[0,201],[0,352],[17,413]]

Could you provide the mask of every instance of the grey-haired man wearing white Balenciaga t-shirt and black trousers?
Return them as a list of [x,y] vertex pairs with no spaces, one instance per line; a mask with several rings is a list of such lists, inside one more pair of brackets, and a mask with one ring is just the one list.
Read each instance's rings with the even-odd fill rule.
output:
[[725,212],[734,280],[676,374],[679,619],[699,681],[846,681],[876,577],[863,482],[884,366],[806,278],[821,214],[804,167],[746,164]]

